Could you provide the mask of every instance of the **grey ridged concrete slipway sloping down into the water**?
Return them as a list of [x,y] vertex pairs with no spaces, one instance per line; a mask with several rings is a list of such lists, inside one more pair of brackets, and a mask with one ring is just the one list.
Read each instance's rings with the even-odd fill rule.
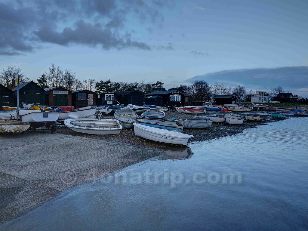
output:
[[0,136],[0,223],[43,204],[67,188],[160,153],[46,132]]

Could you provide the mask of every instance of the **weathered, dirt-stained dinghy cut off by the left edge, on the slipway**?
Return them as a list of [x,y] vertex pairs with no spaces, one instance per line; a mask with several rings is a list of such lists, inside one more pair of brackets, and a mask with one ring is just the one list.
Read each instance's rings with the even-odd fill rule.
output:
[[0,119],[0,134],[15,134],[24,132],[30,128],[31,123],[16,120]]

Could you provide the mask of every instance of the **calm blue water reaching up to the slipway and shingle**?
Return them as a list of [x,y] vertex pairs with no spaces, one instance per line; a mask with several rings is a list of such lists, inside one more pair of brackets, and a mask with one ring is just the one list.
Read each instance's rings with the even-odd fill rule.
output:
[[[283,120],[171,150],[66,190],[2,228],[307,230],[307,122]],[[234,183],[224,177],[230,173]]]

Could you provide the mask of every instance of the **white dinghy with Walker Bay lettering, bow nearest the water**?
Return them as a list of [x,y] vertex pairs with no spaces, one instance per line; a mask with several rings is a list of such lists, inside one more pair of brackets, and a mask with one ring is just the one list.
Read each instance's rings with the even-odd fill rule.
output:
[[191,142],[194,136],[183,134],[180,132],[172,132],[159,128],[151,128],[142,124],[134,123],[134,132],[136,136],[155,142],[173,144],[173,145],[187,145]]

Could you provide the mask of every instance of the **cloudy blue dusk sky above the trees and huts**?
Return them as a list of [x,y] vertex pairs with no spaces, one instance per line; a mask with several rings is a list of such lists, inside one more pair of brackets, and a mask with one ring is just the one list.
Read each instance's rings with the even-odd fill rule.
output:
[[[308,66],[307,10],[298,0],[0,0],[0,68],[15,65],[36,80],[54,63],[80,80],[159,80],[165,88],[204,76],[247,84],[226,73],[278,70],[277,84],[249,75],[248,88],[272,88],[281,67]],[[308,97],[308,74],[294,75],[297,86],[283,87]]]

